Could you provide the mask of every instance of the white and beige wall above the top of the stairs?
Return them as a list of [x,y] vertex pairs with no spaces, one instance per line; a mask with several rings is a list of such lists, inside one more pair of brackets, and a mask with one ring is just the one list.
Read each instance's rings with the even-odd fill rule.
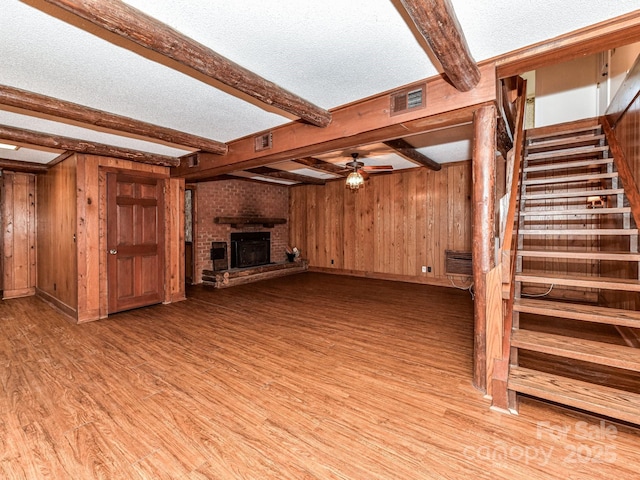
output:
[[597,56],[536,71],[535,126],[597,116]]

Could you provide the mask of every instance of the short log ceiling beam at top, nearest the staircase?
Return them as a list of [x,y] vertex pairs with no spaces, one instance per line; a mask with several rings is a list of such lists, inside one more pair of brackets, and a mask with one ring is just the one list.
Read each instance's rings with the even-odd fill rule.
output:
[[420,34],[442,65],[451,84],[468,92],[480,81],[480,69],[471,56],[450,0],[400,0]]

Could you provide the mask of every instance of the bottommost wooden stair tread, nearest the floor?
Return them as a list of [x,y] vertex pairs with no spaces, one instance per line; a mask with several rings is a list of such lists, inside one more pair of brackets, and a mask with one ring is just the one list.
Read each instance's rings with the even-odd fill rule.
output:
[[640,424],[640,395],[559,375],[511,367],[508,388],[551,402]]

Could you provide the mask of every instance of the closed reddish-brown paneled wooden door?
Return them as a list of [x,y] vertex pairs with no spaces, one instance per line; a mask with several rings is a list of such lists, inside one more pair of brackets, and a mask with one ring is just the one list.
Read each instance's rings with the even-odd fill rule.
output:
[[109,313],[164,298],[164,193],[160,178],[107,174]]

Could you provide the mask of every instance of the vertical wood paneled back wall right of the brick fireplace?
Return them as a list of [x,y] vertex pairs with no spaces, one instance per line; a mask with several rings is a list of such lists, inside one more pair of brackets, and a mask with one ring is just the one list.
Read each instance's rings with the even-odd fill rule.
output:
[[356,192],[292,187],[289,215],[312,269],[450,286],[445,250],[471,250],[471,162],[371,175]]

